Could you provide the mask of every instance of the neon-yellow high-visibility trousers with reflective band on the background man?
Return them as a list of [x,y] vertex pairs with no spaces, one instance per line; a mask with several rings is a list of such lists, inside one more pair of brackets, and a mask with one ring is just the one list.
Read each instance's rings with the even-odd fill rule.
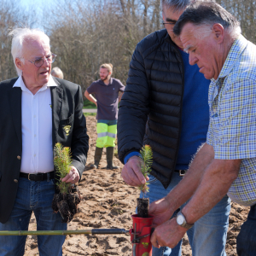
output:
[[117,120],[103,120],[97,121],[97,148],[114,147],[114,141],[117,134]]

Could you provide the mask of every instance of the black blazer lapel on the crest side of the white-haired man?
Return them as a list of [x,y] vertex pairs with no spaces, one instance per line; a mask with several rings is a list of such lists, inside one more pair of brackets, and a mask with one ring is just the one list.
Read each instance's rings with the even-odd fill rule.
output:
[[[60,84],[55,80],[55,83]],[[52,145],[55,147],[55,141],[57,136],[57,131],[59,129],[60,119],[61,119],[61,107],[63,98],[63,89],[60,86],[50,87],[51,94],[51,108],[52,108]]]

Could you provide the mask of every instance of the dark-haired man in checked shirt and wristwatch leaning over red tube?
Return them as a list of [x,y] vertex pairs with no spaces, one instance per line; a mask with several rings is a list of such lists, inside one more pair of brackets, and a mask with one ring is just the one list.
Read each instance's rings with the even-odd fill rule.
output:
[[[218,3],[189,6],[174,32],[209,87],[210,125],[189,172],[169,195],[150,205],[154,247],[175,247],[184,233],[225,194],[250,206],[237,237],[238,255],[256,252],[256,46],[241,36],[236,18]],[[193,109],[191,109],[193,111]],[[191,197],[192,196],[192,197]],[[184,201],[189,203],[171,218]],[[198,255],[197,255],[198,256]]]

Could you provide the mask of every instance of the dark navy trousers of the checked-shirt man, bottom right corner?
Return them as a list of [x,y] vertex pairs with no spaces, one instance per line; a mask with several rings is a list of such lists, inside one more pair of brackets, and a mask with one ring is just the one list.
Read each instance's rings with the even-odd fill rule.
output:
[[236,251],[239,256],[256,255],[256,205],[251,207],[247,221],[241,225],[236,238]]

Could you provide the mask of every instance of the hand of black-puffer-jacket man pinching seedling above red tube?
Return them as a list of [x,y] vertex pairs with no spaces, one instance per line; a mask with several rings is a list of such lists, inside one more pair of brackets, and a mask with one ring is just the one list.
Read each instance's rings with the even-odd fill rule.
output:
[[131,156],[121,173],[125,183],[131,186],[140,186],[149,180],[149,177],[145,179],[143,176],[140,165],[141,159],[137,155]]

